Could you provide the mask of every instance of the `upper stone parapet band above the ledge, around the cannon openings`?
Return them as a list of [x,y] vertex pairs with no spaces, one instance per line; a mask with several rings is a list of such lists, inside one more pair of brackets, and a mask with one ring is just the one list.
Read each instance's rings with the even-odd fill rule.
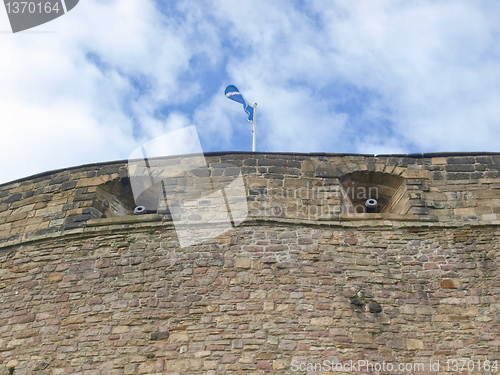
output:
[[[467,155],[226,153],[207,154],[206,160],[208,177],[231,178],[241,170],[254,218],[500,224],[500,154]],[[393,213],[344,214],[341,180],[358,171],[403,178],[405,206]],[[114,162],[0,185],[0,244],[82,231],[86,221],[110,217],[111,211],[122,217],[131,215],[134,203],[128,174],[126,162]],[[207,176],[194,173],[190,178],[196,184]],[[110,199],[113,194],[116,203]],[[171,218],[164,215],[157,220]]]

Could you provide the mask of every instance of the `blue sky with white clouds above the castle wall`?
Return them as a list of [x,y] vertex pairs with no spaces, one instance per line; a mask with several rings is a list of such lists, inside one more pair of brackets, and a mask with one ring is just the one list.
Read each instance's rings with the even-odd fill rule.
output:
[[0,183],[204,152],[500,151],[497,0],[81,0],[13,34],[0,8]]

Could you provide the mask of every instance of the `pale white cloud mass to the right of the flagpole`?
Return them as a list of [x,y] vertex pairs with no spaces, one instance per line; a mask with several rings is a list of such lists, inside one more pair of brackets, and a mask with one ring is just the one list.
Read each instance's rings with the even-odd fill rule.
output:
[[[315,22],[285,2],[242,3],[219,2],[217,12],[251,48],[228,70],[267,104],[261,123],[272,129],[268,149],[336,151],[334,138],[344,152],[498,149],[500,27],[491,9],[463,1],[325,0],[310,9]],[[330,98],[314,92],[327,87]],[[347,114],[355,137],[342,127],[347,115],[335,110],[346,87],[371,94]],[[394,136],[380,137],[360,122],[377,120],[374,113],[391,120]],[[472,124],[481,133],[469,136]]]

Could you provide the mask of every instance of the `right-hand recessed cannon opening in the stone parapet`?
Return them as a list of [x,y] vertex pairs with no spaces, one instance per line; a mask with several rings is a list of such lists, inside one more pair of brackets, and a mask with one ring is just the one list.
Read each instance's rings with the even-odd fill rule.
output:
[[401,214],[409,200],[405,179],[390,173],[357,171],[340,179],[342,213],[367,212],[366,201],[376,200],[374,212]]

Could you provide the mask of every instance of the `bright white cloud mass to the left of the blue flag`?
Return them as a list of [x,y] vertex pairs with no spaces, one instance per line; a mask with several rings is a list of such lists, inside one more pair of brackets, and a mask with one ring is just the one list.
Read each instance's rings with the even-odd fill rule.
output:
[[[175,128],[178,116],[153,114],[178,100],[179,75],[198,44],[162,22],[150,1],[87,0],[36,29],[55,33],[0,34],[0,181],[125,159]],[[132,79],[147,81],[146,92]]]

